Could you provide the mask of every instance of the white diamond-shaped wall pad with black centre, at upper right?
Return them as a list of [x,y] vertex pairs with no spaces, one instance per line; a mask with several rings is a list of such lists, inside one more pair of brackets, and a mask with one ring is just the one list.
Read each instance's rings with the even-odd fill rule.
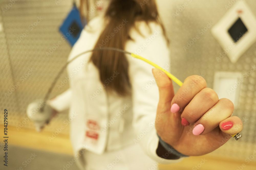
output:
[[211,29],[232,63],[256,41],[256,18],[244,1],[238,1]]

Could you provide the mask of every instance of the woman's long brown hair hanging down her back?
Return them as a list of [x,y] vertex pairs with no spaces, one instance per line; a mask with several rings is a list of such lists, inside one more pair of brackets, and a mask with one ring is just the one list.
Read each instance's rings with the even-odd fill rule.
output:
[[[89,11],[89,7],[89,0],[80,0],[80,11],[84,11],[84,8]],[[86,13],[89,14],[89,12]],[[81,14],[81,17],[89,20],[89,16],[84,15],[84,13]],[[110,34],[113,33],[113,30],[123,21],[128,22],[123,22],[125,25],[121,29],[118,29],[118,31],[115,31],[114,36],[111,36],[108,42],[104,41],[104,47],[124,49],[126,41],[131,39],[129,36],[131,28],[136,28],[135,21],[145,21],[147,24],[153,21],[160,24],[163,34],[166,37],[155,0],[111,0],[104,17],[105,21],[107,21],[106,27],[102,31],[94,48],[102,47],[102,40],[104,41],[106,36],[111,36]],[[136,30],[139,32],[138,28]],[[166,41],[169,43],[167,37]],[[107,90],[113,90],[120,96],[130,94],[129,64],[125,54],[112,50],[94,51],[90,61],[99,69],[100,80],[102,84],[106,85]],[[119,74],[109,83],[107,80],[113,76],[114,72],[118,72]]]

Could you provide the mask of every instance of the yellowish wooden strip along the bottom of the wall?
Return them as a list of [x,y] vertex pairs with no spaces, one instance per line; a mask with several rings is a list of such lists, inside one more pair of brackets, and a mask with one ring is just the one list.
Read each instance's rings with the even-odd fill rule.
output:
[[[55,153],[73,154],[69,135],[58,134],[50,141],[49,137],[52,137],[52,133],[50,132],[43,131],[38,133],[36,130],[26,128],[22,128],[17,131],[16,127],[13,126],[8,126],[8,134],[8,143],[11,145]],[[255,160],[256,154],[253,161]],[[253,161],[248,163],[241,159],[225,158],[206,154],[203,156],[191,156],[176,164],[159,165],[159,168],[161,170],[255,170],[256,162]],[[154,167],[152,167],[152,169],[154,169]]]

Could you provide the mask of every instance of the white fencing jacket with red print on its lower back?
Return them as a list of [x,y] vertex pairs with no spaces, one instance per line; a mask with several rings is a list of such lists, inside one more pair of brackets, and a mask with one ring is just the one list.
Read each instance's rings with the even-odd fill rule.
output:
[[[125,27],[125,22],[129,21],[123,20],[123,23],[117,25],[118,28],[110,32],[110,36],[102,40],[101,45],[104,46],[104,42],[111,41],[111,33],[116,36],[116,31]],[[145,37],[133,28],[130,36],[134,41],[127,41],[125,50],[170,71],[169,49],[162,28],[156,23],[149,23],[152,30],[150,33],[145,22],[136,24]],[[90,31],[88,31],[89,27]],[[93,49],[103,28],[103,18],[92,19],[83,29],[68,60]],[[152,74],[153,66],[126,55],[132,95],[119,97],[105,91],[111,80],[119,76],[118,70],[113,72],[113,76],[109,77],[105,84],[102,84],[98,69],[89,62],[90,57],[91,53],[84,54],[68,65],[68,76],[71,77],[70,89],[50,102],[50,105],[58,111],[70,107],[70,139],[74,154],[76,155],[82,148],[102,154],[105,151],[135,144],[141,145],[145,153],[155,161],[179,162],[181,159],[166,160],[156,154],[159,140],[155,119],[159,92]]]

